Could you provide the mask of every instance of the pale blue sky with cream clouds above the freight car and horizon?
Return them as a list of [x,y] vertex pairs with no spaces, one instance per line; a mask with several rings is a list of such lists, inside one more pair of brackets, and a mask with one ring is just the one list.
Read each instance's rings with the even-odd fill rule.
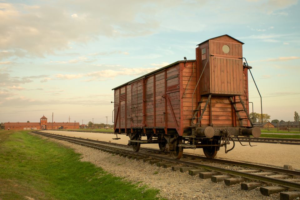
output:
[[[112,124],[113,91],[228,34],[263,113],[300,113],[298,0],[0,0],[0,122]],[[249,77],[249,99],[260,98]],[[107,117],[107,118],[106,118]]]

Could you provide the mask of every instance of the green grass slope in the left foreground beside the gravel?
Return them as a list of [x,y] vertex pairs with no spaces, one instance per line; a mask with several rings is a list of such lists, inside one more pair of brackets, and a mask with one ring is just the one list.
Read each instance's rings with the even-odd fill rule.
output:
[[158,199],[28,131],[0,131],[0,199]]

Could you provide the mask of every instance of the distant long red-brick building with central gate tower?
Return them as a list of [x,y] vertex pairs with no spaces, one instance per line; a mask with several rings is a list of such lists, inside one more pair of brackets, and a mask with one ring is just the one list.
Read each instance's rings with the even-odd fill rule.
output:
[[79,122],[47,122],[42,116],[40,122],[5,122],[5,130],[58,130],[58,129],[79,129]]

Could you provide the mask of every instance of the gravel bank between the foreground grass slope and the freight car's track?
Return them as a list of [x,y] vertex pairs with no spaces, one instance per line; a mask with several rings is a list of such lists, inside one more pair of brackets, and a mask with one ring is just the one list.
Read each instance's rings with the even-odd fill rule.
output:
[[[113,135],[110,135],[112,137]],[[159,168],[143,161],[123,158],[118,155],[68,143],[66,141],[46,138],[61,143],[75,152],[82,154],[82,161],[91,162],[115,176],[133,183],[142,182],[149,187],[159,189],[160,195],[167,199],[279,199],[279,194],[263,196],[259,189],[243,191],[240,185],[226,186],[223,182],[212,183],[210,179],[200,179],[186,173]]]

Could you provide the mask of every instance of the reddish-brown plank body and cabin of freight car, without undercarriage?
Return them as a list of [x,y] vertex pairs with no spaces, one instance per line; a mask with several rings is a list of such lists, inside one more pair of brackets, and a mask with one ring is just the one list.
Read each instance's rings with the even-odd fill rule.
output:
[[[230,48],[228,53],[223,52],[224,45]],[[206,53],[202,55],[203,48]],[[193,123],[191,120],[193,110],[200,99],[203,100],[202,109],[209,94],[212,97],[199,126],[240,127],[230,97],[239,102],[239,95],[249,113],[248,69],[243,68],[241,58],[242,43],[227,36],[217,37],[196,48],[196,60],[176,62],[115,88],[115,132],[128,133],[130,128],[139,128],[138,131],[161,128],[165,131],[176,129],[183,135],[184,129],[197,123],[197,119]],[[236,103],[236,107],[243,109],[241,103]],[[239,114],[241,118],[247,118],[246,113]],[[200,112],[197,113],[199,116]],[[249,127],[249,120],[243,119],[242,125]]]

